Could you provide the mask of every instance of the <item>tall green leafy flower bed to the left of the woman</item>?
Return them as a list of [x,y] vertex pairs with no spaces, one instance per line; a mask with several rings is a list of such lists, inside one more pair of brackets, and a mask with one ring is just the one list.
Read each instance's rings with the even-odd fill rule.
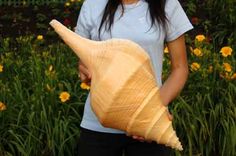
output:
[[[64,44],[43,46],[33,36],[3,39],[1,47],[0,101],[7,109],[0,111],[0,155],[75,155],[87,94],[77,58]],[[62,91],[70,94],[66,102]]]

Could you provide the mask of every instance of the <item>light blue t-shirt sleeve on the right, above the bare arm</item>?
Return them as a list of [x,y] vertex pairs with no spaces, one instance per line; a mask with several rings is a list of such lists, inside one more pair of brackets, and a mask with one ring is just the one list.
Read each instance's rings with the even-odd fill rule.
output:
[[185,32],[193,29],[178,0],[167,0],[165,12],[168,19],[165,37],[167,42],[173,41]]

